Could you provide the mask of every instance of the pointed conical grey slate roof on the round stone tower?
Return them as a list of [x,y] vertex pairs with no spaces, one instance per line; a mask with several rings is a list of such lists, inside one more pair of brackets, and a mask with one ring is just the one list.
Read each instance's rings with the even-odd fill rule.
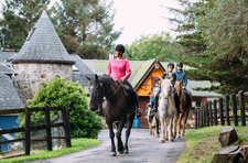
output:
[[19,54],[14,56],[14,63],[56,63],[73,65],[75,61],[69,57],[48,15],[43,11]]

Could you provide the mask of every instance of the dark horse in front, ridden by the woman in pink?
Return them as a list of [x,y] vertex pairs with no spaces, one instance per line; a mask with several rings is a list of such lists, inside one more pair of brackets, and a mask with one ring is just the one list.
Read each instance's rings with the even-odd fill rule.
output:
[[[134,105],[128,102],[127,96],[121,87],[121,84],[112,80],[110,76],[97,76],[95,78],[86,77],[89,80],[89,109],[91,111],[99,111],[103,108],[103,113],[106,117],[106,123],[109,128],[109,137],[111,140],[111,156],[116,156],[115,133],[112,124],[117,126],[117,148],[120,154],[129,153],[128,139],[130,135],[131,127],[136,117]],[[136,97],[138,101],[138,96]],[[121,131],[127,123],[126,143],[123,146],[121,140]]]

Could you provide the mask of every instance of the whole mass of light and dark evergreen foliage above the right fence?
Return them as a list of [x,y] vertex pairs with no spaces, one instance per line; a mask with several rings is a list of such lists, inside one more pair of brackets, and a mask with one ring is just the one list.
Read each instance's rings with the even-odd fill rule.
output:
[[247,1],[179,0],[183,9],[171,9],[181,17],[177,42],[187,52],[181,61],[196,67],[188,78],[219,83],[220,94],[248,90]]

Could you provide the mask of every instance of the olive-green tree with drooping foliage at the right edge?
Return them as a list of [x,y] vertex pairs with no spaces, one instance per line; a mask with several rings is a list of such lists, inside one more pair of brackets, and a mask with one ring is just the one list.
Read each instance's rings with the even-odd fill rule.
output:
[[247,11],[247,0],[217,0],[198,21],[213,61],[208,76],[220,83],[220,93],[248,90]]

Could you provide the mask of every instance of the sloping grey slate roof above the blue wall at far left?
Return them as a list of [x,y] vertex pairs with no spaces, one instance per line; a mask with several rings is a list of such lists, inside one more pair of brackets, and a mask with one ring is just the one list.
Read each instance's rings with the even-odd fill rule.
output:
[[22,108],[23,104],[7,75],[0,73],[0,110]]

